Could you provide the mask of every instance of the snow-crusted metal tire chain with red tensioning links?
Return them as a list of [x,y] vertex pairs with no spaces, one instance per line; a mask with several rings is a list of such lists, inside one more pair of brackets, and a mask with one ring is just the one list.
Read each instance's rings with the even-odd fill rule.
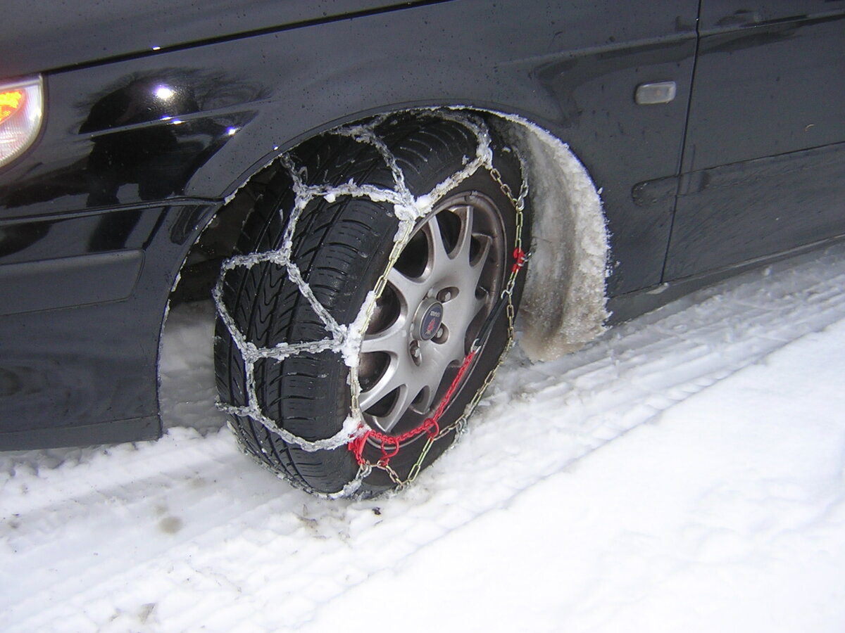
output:
[[[433,116],[446,119],[452,122],[457,122],[469,129],[477,138],[476,156],[473,160],[469,160],[462,170],[459,170],[450,178],[439,183],[431,192],[428,192],[419,197],[413,197],[412,193],[406,187],[405,176],[402,173],[399,165],[396,162],[395,156],[390,153],[384,140],[379,138],[376,133],[376,127],[383,123],[388,116],[379,116],[368,122],[365,125],[353,125],[348,127],[339,127],[330,131],[330,134],[346,136],[353,138],[357,143],[368,143],[381,154],[383,160],[388,165],[393,175],[394,189],[384,189],[380,187],[373,187],[371,185],[357,185],[349,181],[340,186],[319,186],[307,185],[304,182],[304,175],[302,168],[297,169],[293,164],[290,154],[281,154],[281,165],[287,170],[288,175],[293,182],[293,191],[295,194],[294,206],[291,210],[290,217],[285,225],[285,231],[282,237],[281,248],[266,251],[248,253],[246,255],[237,255],[231,257],[223,263],[221,267],[221,275],[215,284],[212,295],[214,298],[217,314],[221,319],[224,327],[232,337],[232,342],[237,347],[238,352],[243,358],[243,365],[245,370],[246,383],[246,405],[238,406],[230,403],[223,403],[219,399],[216,403],[217,408],[226,414],[231,414],[239,417],[247,417],[253,419],[255,422],[264,426],[271,433],[279,436],[281,440],[293,446],[298,446],[304,451],[331,451],[341,446],[351,451],[358,464],[358,471],[356,476],[346,484],[342,490],[331,494],[324,494],[321,496],[329,498],[351,496],[360,487],[363,479],[366,479],[372,472],[373,468],[384,470],[390,476],[390,479],[397,487],[402,487],[410,484],[417,478],[420,470],[423,467],[425,457],[435,441],[446,436],[451,431],[460,433],[466,427],[466,420],[476,408],[477,403],[481,400],[483,393],[487,390],[490,382],[493,381],[493,376],[499,369],[499,366],[504,362],[504,357],[510,351],[515,340],[515,306],[513,305],[513,290],[516,284],[516,279],[521,269],[524,268],[528,259],[528,255],[522,246],[522,225],[523,225],[523,210],[525,208],[526,196],[528,194],[528,181],[526,178],[526,168],[521,154],[517,153],[521,165],[521,187],[517,196],[514,195],[510,186],[504,182],[499,170],[493,166],[493,150],[491,149],[490,134],[486,123],[477,116],[469,113],[458,111],[443,111],[443,110],[425,110],[419,111],[419,116]],[[444,398],[440,401],[434,414],[425,420],[421,425],[407,431],[399,436],[390,436],[379,431],[373,430],[363,419],[363,412],[358,403],[358,397],[361,392],[360,382],[357,375],[357,355],[360,351],[360,344],[363,340],[363,333],[367,330],[369,321],[373,316],[376,301],[379,299],[384,288],[387,285],[388,273],[394,267],[395,262],[411,238],[412,230],[417,223],[417,220],[423,218],[430,213],[433,208],[433,203],[436,203],[443,195],[453,189],[461,181],[472,176],[478,169],[486,168],[493,180],[499,185],[499,189],[513,204],[515,209],[515,243],[513,250],[514,264],[510,269],[510,276],[504,285],[504,289],[499,296],[499,300],[493,307],[493,310],[488,315],[485,322],[482,324],[481,330],[478,333],[476,340],[473,342],[469,353],[463,360],[460,369],[458,370],[455,379],[450,384],[449,389],[444,394]],[[390,252],[387,265],[384,272],[377,280],[373,291],[368,295],[367,300],[359,311],[356,320],[348,325],[341,325],[335,322],[330,313],[324,306],[319,303],[319,300],[313,295],[313,291],[308,286],[308,283],[303,279],[302,273],[297,265],[292,262],[292,241],[293,234],[296,230],[296,225],[300,215],[304,209],[314,198],[323,197],[328,202],[333,202],[336,197],[366,197],[373,203],[392,203],[394,205],[394,213],[399,219],[399,230],[396,231],[393,248]],[[285,214],[284,209],[279,210],[280,214]],[[318,341],[310,341],[305,343],[288,344],[280,343],[271,348],[262,348],[250,342],[245,334],[243,334],[237,327],[232,315],[223,303],[223,281],[226,273],[235,268],[252,268],[255,265],[273,263],[275,265],[286,268],[287,279],[292,284],[297,286],[299,292],[312,306],[314,313],[323,322],[326,329],[327,337]],[[451,398],[454,396],[457,389],[461,386],[466,372],[469,371],[472,361],[476,358],[477,352],[487,342],[488,335],[493,327],[493,322],[498,320],[502,310],[507,311],[508,318],[508,334],[502,354],[499,355],[499,360],[493,369],[488,372],[482,382],[481,387],[472,397],[472,400],[467,403],[466,408],[462,414],[452,424],[441,427],[439,419],[444,414],[448,407]],[[349,415],[346,417],[341,430],[335,435],[325,438],[323,440],[309,441],[303,437],[294,435],[288,430],[285,430],[281,423],[271,419],[259,407],[259,398],[257,396],[255,385],[255,363],[261,359],[284,360],[297,354],[306,353],[320,353],[324,351],[334,351],[344,357],[346,365],[350,371],[350,385],[352,391],[352,406]],[[411,440],[417,436],[425,434],[426,441],[423,448],[417,457],[417,461],[412,465],[408,475],[405,479],[395,472],[390,466],[390,460],[399,454],[403,442]],[[381,457],[375,462],[370,462],[363,457],[365,446],[374,444],[379,448]]]

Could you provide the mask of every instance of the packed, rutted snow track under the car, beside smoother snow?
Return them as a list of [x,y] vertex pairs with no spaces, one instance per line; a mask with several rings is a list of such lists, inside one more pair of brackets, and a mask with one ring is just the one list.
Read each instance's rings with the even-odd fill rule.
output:
[[[564,359],[511,358],[472,432],[412,489],[386,499],[329,502],[291,490],[237,453],[226,430],[208,432],[220,422],[206,419],[214,416],[207,402],[171,407],[206,436],[177,427],[156,444],[108,454],[8,453],[0,457],[0,569],[26,571],[14,572],[16,585],[4,582],[19,589],[0,598],[3,621],[10,630],[303,625],[368,576],[842,321],[843,287],[838,245],[676,301]],[[177,355],[188,360],[165,370],[197,388],[209,378],[209,360],[196,351],[207,324],[175,324]],[[181,522],[175,533],[159,529],[161,507]]]

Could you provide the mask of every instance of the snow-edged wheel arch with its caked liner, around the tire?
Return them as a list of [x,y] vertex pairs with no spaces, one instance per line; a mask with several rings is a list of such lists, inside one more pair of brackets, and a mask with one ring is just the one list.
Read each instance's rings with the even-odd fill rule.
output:
[[[215,257],[231,254],[250,203],[260,195],[281,154],[333,127],[366,116],[432,107],[443,106],[358,112],[274,145],[272,151],[254,160],[247,172],[226,188],[225,203],[215,214],[199,222],[194,238],[188,242],[193,246],[186,252],[174,282],[172,299],[196,298],[210,288],[210,279],[200,279],[208,274],[208,267],[193,273],[188,269],[192,253],[199,249]],[[519,151],[526,166],[536,237],[531,245],[532,259],[523,300],[521,347],[532,360],[551,360],[578,349],[603,332],[608,318],[605,307],[608,235],[599,191],[570,147],[525,116],[477,106],[446,107],[483,113]],[[191,284],[196,288],[192,289]]]

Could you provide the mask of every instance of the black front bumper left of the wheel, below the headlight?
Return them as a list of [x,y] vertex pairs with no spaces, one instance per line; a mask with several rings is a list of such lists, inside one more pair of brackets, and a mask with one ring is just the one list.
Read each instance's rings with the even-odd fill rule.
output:
[[[59,253],[88,253],[41,260],[38,266],[56,269],[49,283],[24,275],[14,282],[3,277],[10,269],[34,263],[0,266],[0,293],[8,297],[0,309],[5,313],[0,316],[2,446],[158,436],[159,333],[167,296],[189,246],[181,227],[185,218],[207,213],[207,207],[174,205],[47,220],[45,240],[77,236]],[[133,224],[131,230],[128,224]],[[2,226],[5,235],[8,225]],[[89,251],[96,248],[107,250]],[[21,289],[13,283],[22,279],[32,283],[28,293],[19,295]],[[22,306],[27,300],[30,305]],[[68,306],[71,300],[76,305]],[[20,311],[31,307],[39,309]],[[112,421],[119,424],[107,424]]]

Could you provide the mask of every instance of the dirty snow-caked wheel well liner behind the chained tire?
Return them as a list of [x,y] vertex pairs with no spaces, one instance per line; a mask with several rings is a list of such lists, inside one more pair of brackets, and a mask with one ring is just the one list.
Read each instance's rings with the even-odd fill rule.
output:
[[526,161],[533,209],[519,343],[532,360],[552,360],[605,330],[608,233],[602,201],[568,145],[525,119],[494,114],[495,127]]

